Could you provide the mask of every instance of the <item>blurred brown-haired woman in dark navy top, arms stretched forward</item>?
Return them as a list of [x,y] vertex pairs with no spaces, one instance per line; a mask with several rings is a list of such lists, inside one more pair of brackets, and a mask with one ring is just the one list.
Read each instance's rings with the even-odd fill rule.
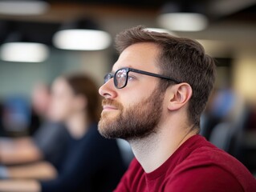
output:
[[0,191],[114,190],[124,173],[124,163],[116,140],[101,137],[97,130],[99,105],[100,96],[90,78],[57,78],[52,86],[49,114],[55,121],[65,123],[71,134],[65,155],[56,166],[36,170],[33,166],[8,168],[9,178],[32,178],[39,171],[44,174],[40,181],[2,180]]

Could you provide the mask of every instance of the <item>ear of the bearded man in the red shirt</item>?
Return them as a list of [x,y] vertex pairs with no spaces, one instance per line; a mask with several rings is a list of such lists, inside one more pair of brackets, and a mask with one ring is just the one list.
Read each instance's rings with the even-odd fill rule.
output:
[[185,106],[192,96],[192,88],[188,83],[182,82],[180,84],[171,86],[169,88],[169,110],[179,110]]

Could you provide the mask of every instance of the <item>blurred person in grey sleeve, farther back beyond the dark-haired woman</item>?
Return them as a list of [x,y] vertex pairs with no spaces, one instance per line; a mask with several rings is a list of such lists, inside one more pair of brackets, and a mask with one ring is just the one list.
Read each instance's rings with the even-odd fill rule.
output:
[[69,133],[59,122],[51,121],[47,114],[51,102],[50,88],[44,84],[35,86],[32,97],[29,132],[32,137],[0,138],[0,163],[21,164],[47,160],[55,164],[67,147]]

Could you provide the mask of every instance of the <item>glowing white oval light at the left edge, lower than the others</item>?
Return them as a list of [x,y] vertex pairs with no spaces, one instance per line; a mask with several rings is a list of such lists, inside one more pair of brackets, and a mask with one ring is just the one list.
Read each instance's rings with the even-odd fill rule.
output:
[[48,47],[42,43],[6,42],[0,47],[0,57],[6,62],[43,62],[48,55]]

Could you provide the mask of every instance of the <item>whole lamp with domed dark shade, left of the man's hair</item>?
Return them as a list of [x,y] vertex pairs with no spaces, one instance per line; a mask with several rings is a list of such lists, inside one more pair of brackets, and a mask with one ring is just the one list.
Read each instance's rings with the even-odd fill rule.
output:
[[111,42],[110,34],[101,30],[94,19],[86,17],[63,22],[53,37],[53,44],[63,50],[104,50]]

